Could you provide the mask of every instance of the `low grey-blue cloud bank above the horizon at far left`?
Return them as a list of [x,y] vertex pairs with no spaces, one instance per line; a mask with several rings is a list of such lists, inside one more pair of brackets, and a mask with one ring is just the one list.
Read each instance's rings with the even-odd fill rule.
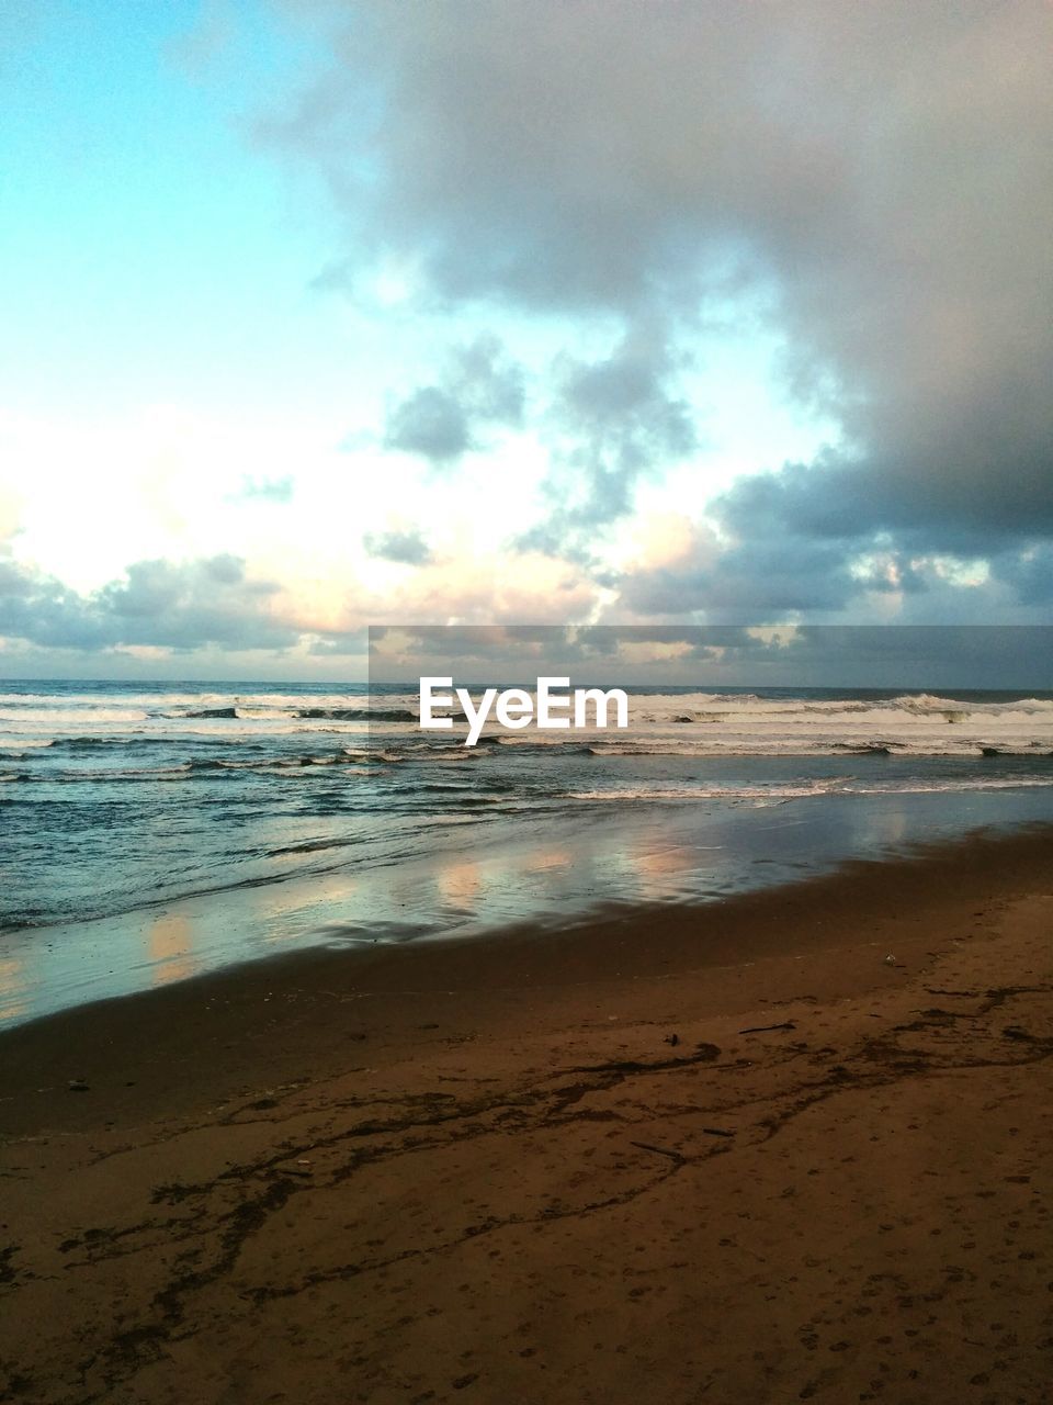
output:
[[0,575],[0,635],[46,648],[281,649],[298,634],[270,617],[277,590],[247,579],[244,562],[227,555],[139,561],[91,594],[8,563]]

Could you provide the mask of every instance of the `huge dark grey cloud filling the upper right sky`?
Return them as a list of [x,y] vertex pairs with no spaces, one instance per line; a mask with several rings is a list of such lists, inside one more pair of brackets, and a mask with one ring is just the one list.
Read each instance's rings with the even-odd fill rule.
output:
[[[821,542],[844,577],[876,534],[979,540],[1045,589],[1019,554],[1053,535],[1047,4],[312,8],[337,65],[282,136],[330,174],[350,266],[385,251],[448,306],[646,316],[670,343],[762,295],[844,448],[733,490],[740,542]],[[571,513],[626,509],[618,454],[564,472]]]

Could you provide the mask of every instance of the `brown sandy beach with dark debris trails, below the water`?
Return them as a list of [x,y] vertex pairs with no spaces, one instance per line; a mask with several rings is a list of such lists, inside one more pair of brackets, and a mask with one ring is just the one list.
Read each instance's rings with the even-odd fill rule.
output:
[[0,1398],[1038,1405],[1052,936],[1036,832],[11,1030]]

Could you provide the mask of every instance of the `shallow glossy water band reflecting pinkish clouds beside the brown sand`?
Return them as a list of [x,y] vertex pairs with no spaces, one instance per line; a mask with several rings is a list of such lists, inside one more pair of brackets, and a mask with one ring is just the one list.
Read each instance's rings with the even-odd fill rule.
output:
[[1045,792],[816,797],[494,823],[397,863],[251,884],[104,922],[4,933],[0,1023],[316,946],[557,930],[607,903],[706,902],[969,828],[1046,818]]

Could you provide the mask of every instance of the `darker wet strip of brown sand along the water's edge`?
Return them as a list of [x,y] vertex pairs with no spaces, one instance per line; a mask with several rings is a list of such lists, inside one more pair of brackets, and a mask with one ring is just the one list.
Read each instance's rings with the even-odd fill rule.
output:
[[[1047,871],[1053,826],[1033,825],[934,843],[908,857],[859,858],[705,903],[612,905],[562,929],[524,924],[490,937],[312,947],[232,964],[0,1030],[0,1134],[13,1113],[21,1125],[17,1110],[24,1117],[27,1100],[60,1093],[58,1106],[67,1111],[70,1078],[107,1082],[114,1106],[131,1113],[138,1096],[122,1094],[112,1078],[100,1080],[114,1061],[129,1069],[146,1064],[156,1075],[154,1093],[183,1106],[171,1069],[185,1065],[202,1041],[225,1055],[213,1069],[195,1068],[194,1086],[208,1100],[265,1069],[281,1078],[298,1059],[338,1058],[364,1027],[382,1024],[409,1037],[421,1010],[500,1031],[522,1016],[556,1019],[560,1005],[573,1007],[583,989],[639,1000],[649,985],[660,989],[664,981],[702,974],[709,986],[703,1005],[716,1010],[731,998],[767,999],[767,988],[778,988],[799,957],[819,953],[827,953],[827,969],[810,976],[823,998],[862,993],[887,976],[880,960],[872,968],[870,947],[883,947],[882,958],[896,955],[901,974],[932,947],[920,920],[929,906],[951,903],[967,923],[977,885],[1005,896],[1029,889]],[[845,940],[861,909],[866,933]],[[268,1047],[278,1027],[284,1051]]]

